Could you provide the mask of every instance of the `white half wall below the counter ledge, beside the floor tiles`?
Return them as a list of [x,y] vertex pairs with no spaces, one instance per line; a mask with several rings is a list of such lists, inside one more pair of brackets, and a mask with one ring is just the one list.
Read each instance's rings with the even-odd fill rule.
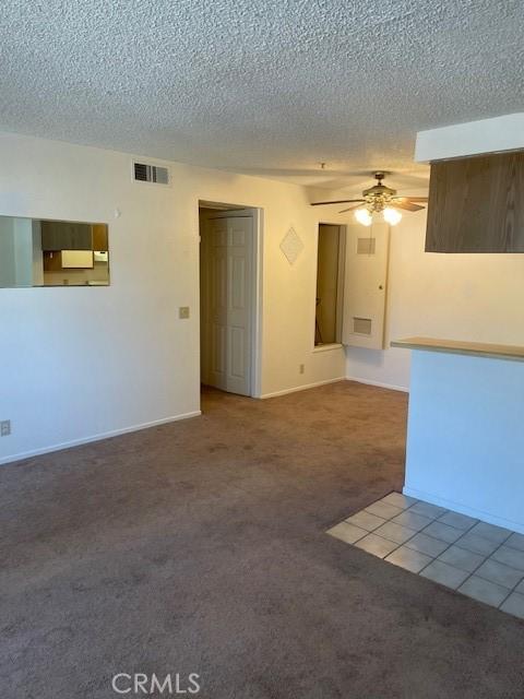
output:
[[406,495],[524,533],[524,363],[415,351]]

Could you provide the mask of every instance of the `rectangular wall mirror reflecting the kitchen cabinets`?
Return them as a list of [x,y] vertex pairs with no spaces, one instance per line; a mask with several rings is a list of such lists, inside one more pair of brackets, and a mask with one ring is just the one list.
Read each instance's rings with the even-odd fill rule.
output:
[[0,216],[0,287],[108,285],[107,224]]

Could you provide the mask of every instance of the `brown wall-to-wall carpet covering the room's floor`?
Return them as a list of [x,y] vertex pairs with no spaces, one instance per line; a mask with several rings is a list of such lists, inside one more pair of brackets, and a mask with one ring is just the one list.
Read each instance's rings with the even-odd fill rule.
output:
[[524,624],[327,536],[403,483],[407,396],[343,381],[0,469],[2,695],[520,697]]

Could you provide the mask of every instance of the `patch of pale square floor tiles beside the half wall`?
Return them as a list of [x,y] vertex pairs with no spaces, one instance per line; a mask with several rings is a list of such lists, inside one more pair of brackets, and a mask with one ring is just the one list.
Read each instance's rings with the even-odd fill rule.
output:
[[390,493],[327,534],[524,619],[524,535]]

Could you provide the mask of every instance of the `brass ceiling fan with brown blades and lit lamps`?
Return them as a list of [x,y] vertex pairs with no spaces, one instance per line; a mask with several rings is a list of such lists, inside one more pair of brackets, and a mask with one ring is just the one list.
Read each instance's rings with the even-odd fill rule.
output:
[[323,206],[325,204],[352,204],[348,209],[343,209],[338,213],[343,214],[346,211],[355,211],[355,218],[365,226],[370,226],[372,223],[372,216],[374,213],[381,213],[384,221],[390,225],[396,225],[401,218],[402,213],[398,209],[405,211],[420,211],[424,206],[420,206],[415,202],[427,202],[427,197],[397,197],[396,189],[391,189],[382,185],[386,173],[378,171],[373,173],[373,177],[377,180],[377,185],[365,189],[362,192],[362,199],[338,199],[336,201],[315,201],[311,206]]

